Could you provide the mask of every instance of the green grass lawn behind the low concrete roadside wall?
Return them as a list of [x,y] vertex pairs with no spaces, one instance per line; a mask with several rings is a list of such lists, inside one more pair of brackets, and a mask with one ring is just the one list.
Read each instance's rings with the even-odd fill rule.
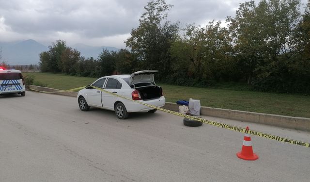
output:
[[[62,90],[85,86],[97,79],[52,73],[23,73],[23,75],[33,75],[35,82]],[[163,87],[167,102],[175,103],[180,99],[192,98],[200,99],[201,105],[207,107],[310,117],[310,96],[157,84]]]

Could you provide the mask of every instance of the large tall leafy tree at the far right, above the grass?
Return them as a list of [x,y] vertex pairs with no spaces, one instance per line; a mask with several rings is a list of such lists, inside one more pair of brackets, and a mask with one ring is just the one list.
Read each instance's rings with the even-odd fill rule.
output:
[[227,18],[235,57],[254,89],[309,92],[309,61],[303,54],[309,38],[299,7],[300,0],[249,1]]

